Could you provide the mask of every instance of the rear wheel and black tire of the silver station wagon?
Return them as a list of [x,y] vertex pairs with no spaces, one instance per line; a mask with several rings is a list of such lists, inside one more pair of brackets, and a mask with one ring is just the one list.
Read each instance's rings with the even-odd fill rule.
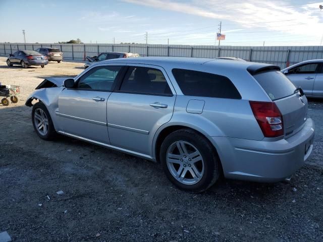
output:
[[185,191],[201,193],[216,183],[221,174],[220,160],[212,144],[190,129],[168,135],[161,144],[159,159],[170,181]]

